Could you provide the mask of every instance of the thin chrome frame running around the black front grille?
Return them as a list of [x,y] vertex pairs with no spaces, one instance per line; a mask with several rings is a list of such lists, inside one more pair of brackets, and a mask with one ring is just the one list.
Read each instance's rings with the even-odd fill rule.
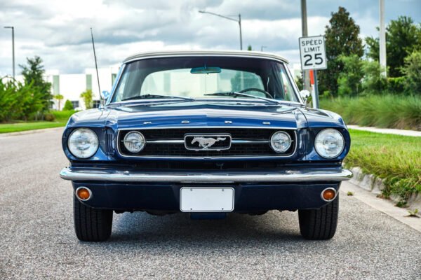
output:
[[[121,158],[142,158],[142,159],[147,159],[147,160],[154,160],[154,159],[166,159],[166,158],[171,158],[171,159],[180,159],[180,160],[185,160],[185,159],[192,159],[192,160],[213,160],[213,159],[217,159],[217,160],[232,160],[232,159],[241,159],[241,160],[247,160],[248,158],[250,159],[256,159],[256,158],[291,158],[295,155],[295,153],[297,152],[297,148],[298,148],[298,135],[297,135],[297,131],[294,130],[294,135],[295,135],[295,141],[294,141],[294,151],[290,154],[290,155],[282,155],[281,153],[278,155],[234,155],[234,156],[230,156],[230,157],[186,157],[186,156],[173,156],[173,155],[123,155],[123,153],[121,153],[120,151],[120,145],[118,143],[118,140],[120,139],[120,132],[122,130],[150,130],[150,129],[163,129],[163,130],[168,130],[171,128],[175,128],[175,127],[145,127],[145,128],[125,128],[125,129],[121,129],[119,130],[119,132],[117,132],[117,137],[116,137],[116,147],[117,147],[117,153],[121,156]],[[177,127],[177,128],[185,128],[185,127]],[[215,128],[215,127],[189,127],[189,128]],[[226,128],[226,127],[221,127],[221,128]],[[263,127],[241,127],[241,128],[263,128]],[[278,129],[277,127],[266,127],[266,128],[274,128],[274,129]],[[288,130],[288,129],[286,129]],[[146,141],[145,146],[147,145],[148,141]]]

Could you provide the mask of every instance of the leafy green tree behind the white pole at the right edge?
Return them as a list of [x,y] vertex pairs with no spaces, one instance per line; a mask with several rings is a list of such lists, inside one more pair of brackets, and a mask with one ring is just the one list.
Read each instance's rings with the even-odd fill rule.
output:
[[[378,27],[377,27],[378,30]],[[379,38],[367,37],[367,56],[379,60]],[[386,27],[386,59],[389,77],[403,76],[401,71],[405,57],[421,50],[421,25],[415,25],[410,17],[401,16]]]

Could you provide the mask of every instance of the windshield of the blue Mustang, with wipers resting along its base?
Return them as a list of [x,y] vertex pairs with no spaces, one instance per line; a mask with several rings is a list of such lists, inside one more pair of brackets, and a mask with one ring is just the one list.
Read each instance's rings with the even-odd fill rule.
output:
[[286,71],[281,62],[254,57],[142,59],[126,65],[112,102],[166,97],[299,102]]

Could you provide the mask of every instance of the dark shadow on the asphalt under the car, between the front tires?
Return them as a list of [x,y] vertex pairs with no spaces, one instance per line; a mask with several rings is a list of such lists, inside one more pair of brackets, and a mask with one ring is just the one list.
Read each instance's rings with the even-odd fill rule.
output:
[[262,216],[229,214],[224,220],[191,220],[188,214],[152,216],[142,212],[125,213],[114,218],[110,241],[116,243],[182,244],[189,250],[203,244],[212,248],[274,244],[288,240],[302,242],[295,213],[269,211]]

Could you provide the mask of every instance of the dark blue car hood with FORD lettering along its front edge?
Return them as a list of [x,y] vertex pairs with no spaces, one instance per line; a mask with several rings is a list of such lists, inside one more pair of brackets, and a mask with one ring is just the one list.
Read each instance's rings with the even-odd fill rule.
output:
[[[311,125],[343,126],[339,116],[301,106],[261,104],[131,104],[108,106],[76,113],[68,127],[107,126],[114,130],[148,127],[283,127],[300,129]],[[340,117],[339,117],[340,118]]]

